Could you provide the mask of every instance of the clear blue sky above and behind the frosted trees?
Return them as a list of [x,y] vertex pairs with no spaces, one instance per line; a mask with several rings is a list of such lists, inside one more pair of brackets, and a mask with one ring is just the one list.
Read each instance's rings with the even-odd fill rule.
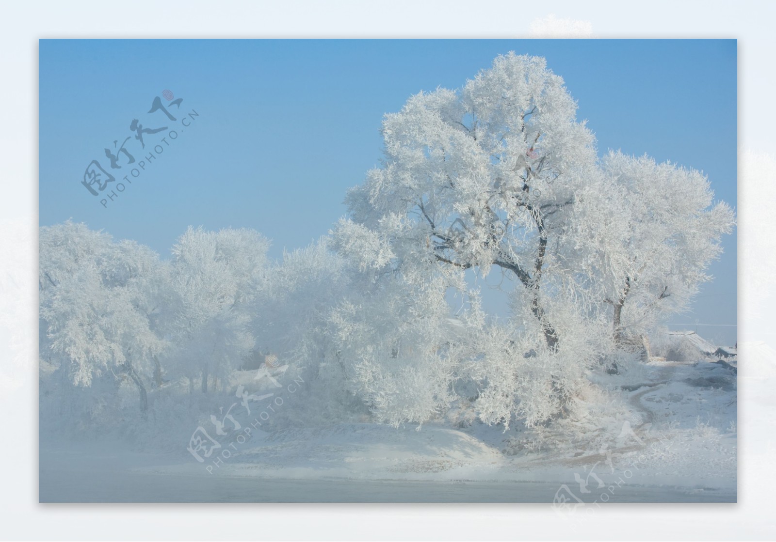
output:
[[[695,167],[736,207],[736,40],[40,40],[40,224],[85,222],[164,257],[189,225],[250,227],[277,257],[345,214],[346,189],[381,156],[384,113],[459,88],[510,50],[563,76],[599,154]],[[175,121],[147,113],[157,96]],[[144,133],[141,150],[133,119],[178,138]],[[127,136],[136,163],[119,154],[110,170],[103,149]],[[113,185],[133,181],[106,207],[81,185],[92,160],[121,172]],[[735,235],[723,246],[715,281],[674,323],[726,324],[698,332],[732,343]]]

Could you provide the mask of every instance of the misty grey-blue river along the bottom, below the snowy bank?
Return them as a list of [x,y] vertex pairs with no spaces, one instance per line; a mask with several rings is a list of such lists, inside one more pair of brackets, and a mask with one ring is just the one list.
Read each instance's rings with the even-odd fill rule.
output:
[[[170,457],[40,451],[40,502],[552,502],[559,482],[425,482],[169,475]],[[569,488],[578,488],[572,480]],[[603,492],[604,490],[599,490]],[[594,495],[594,494],[592,494]],[[735,502],[724,489],[622,485],[609,502]],[[587,506],[595,497],[586,495]]]

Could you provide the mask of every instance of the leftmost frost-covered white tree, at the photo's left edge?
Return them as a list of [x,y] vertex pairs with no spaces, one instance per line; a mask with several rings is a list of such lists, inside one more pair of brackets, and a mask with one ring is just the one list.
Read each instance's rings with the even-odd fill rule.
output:
[[157,254],[68,221],[40,228],[39,262],[41,357],[58,357],[64,380],[81,388],[109,374],[131,381],[145,412],[165,348],[152,324]]

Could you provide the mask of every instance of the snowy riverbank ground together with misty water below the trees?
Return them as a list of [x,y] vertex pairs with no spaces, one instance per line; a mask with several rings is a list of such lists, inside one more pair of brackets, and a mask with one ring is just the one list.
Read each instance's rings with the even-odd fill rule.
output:
[[620,414],[559,424],[542,444],[480,423],[252,430],[203,463],[185,444],[144,454],[121,442],[43,442],[40,500],[736,501],[737,364],[708,359],[653,358],[608,376]]

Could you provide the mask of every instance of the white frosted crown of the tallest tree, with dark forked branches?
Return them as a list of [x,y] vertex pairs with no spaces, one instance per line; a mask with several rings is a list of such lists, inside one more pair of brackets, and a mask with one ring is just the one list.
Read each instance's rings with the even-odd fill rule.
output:
[[[554,251],[570,209],[594,195],[594,136],[540,57],[508,54],[462,91],[412,96],[383,120],[385,158],[348,192],[335,238],[372,267],[501,268],[528,296],[546,342],[559,337],[542,288],[569,266]],[[352,220],[352,222],[351,222]]]

